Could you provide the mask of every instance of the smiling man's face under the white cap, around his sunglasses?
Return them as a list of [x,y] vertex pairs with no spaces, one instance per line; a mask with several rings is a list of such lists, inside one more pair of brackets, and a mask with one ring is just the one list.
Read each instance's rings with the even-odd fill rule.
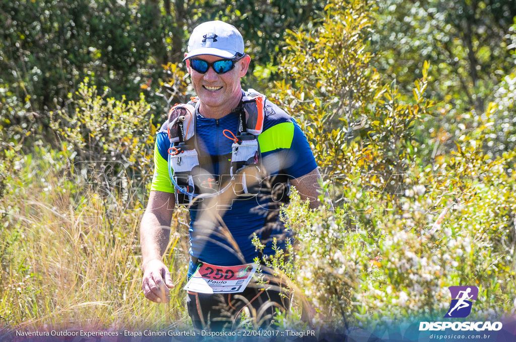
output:
[[[201,55],[193,57],[208,63],[213,63],[223,58],[211,55]],[[193,89],[201,102],[201,109],[204,111],[217,111],[217,113],[203,114],[228,114],[238,105],[241,97],[240,78],[247,73],[250,58],[245,56],[236,62],[233,70],[224,74],[217,74],[213,67],[208,67],[208,71],[201,74],[192,69],[190,60],[187,60],[187,70],[190,73]]]

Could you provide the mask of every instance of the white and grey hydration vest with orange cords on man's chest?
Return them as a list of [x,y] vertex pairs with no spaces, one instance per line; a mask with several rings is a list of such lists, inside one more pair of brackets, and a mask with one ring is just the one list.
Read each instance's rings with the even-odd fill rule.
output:
[[223,131],[233,144],[229,170],[223,170],[218,179],[203,168],[209,161],[200,157],[197,147],[197,99],[170,109],[168,169],[176,204],[191,205],[195,200],[213,197],[229,189],[236,196],[255,196],[260,192],[265,174],[257,137],[263,130],[265,100],[265,95],[250,89],[233,110],[239,115],[238,131],[236,135],[230,130]]

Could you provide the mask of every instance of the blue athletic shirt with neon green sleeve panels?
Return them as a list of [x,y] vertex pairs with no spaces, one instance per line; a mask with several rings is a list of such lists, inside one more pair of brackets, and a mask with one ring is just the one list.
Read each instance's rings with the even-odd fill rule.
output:
[[[243,94],[247,94],[244,93]],[[228,129],[237,135],[239,115],[230,113],[220,119],[210,119],[196,111],[196,139],[200,157],[212,157],[213,160],[231,158],[233,141],[226,138],[222,131]],[[317,167],[307,138],[294,119],[278,106],[266,100],[263,131],[258,136],[262,162],[268,175],[286,175],[289,179],[299,178]],[[151,190],[174,192],[168,172],[168,149],[170,141],[167,134],[168,120],[157,132],[154,148],[154,175]],[[219,158],[219,159],[218,159]],[[200,158],[205,160],[205,158]],[[218,176],[228,174],[229,170],[219,169],[215,162],[206,166]],[[233,193],[232,189],[227,191]],[[290,236],[279,219],[277,207],[271,206],[270,197],[257,195],[255,197],[235,197],[233,194],[230,208],[215,207],[221,221],[199,218],[206,208],[194,204],[189,208],[190,214],[190,248],[192,257],[213,265],[233,266],[250,263],[259,255],[252,244],[253,233],[261,239],[265,226],[271,229],[270,238],[265,242],[265,255],[273,254],[272,238],[276,237],[278,247],[284,248],[286,239]],[[268,210],[275,208],[274,210]],[[213,216],[212,216],[213,217]],[[202,220],[202,221],[201,221]],[[227,228],[225,230],[224,228]],[[226,233],[224,233],[224,231]],[[231,233],[241,253],[235,251],[228,237]],[[207,232],[207,233],[205,233]],[[192,266],[190,265],[190,268]],[[192,270],[189,271],[191,273]]]

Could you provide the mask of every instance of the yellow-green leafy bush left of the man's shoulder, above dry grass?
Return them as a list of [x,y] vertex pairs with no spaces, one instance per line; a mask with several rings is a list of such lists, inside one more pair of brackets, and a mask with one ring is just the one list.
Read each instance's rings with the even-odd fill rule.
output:
[[[131,206],[144,206],[144,184],[152,175],[155,126],[150,106],[140,96],[138,102],[99,95],[86,78],[69,97],[75,111],[51,112],[51,127],[63,149],[70,152],[70,170],[78,182],[95,187],[110,205],[112,192],[134,192],[140,197],[125,198]],[[143,189],[141,189],[143,187]],[[136,200],[135,202],[132,202]]]

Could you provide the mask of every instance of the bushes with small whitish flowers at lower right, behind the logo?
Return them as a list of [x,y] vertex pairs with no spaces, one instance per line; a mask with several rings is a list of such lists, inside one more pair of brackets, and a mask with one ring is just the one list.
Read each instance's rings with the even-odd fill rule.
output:
[[[484,160],[481,152],[472,157]],[[336,213],[312,212],[294,196],[286,216],[294,218],[287,223],[298,240],[295,279],[318,324],[373,327],[384,319],[442,317],[453,285],[479,287],[475,318],[513,313],[516,184],[507,164],[514,158],[512,153],[479,169],[456,156],[442,174],[426,169],[397,198],[402,210],[370,199],[375,209],[367,211],[367,220],[349,204]],[[464,169],[469,176],[460,174]],[[436,182],[443,187],[432,189]],[[443,194],[443,188],[457,193]]]

